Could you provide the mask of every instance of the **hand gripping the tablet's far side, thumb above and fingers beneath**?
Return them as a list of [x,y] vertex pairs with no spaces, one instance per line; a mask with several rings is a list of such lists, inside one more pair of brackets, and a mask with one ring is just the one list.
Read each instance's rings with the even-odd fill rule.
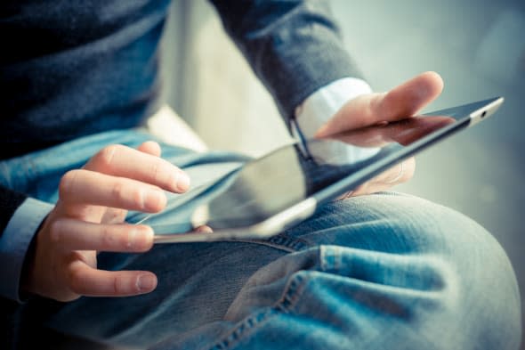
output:
[[[418,110],[436,99],[443,89],[441,77],[434,72],[420,74],[388,93],[364,94],[346,102],[335,116],[321,126],[315,135],[327,138],[361,127],[388,123],[416,115]],[[414,158],[397,165],[363,183],[345,197],[384,191],[407,182],[416,169]]]

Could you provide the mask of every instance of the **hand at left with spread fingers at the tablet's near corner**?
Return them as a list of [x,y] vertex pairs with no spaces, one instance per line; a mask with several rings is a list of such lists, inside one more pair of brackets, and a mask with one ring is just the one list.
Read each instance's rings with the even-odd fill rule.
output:
[[59,200],[36,235],[26,291],[70,301],[83,295],[133,296],[157,287],[150,272],[98,270],[97,252],[152,247],[151,228],[125,224],[127,210],[159,212],[166,207],[162,190],[189,187],[188,176],[159,156],[156,142],[144,142],[138,150],[112,145],[63,175]]

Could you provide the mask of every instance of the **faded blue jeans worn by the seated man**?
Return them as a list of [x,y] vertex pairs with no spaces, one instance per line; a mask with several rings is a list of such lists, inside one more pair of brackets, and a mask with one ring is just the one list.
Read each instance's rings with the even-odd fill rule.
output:
[[[104,145],[151,138],[109,132],[36,152],[11,163],[12,186],[54,201],[61,175]],[[246,160],[167,145],[163,157],[209,188],[196,200]],[[193,202],[170,197],[148,222],[187,222]],[[158,288],[55,303],[40,315],[47,326],[155,349],[517,349],[521,339],[519,291],[497,241],[449,208],[393,192],[329,203],[270,240],[101,253],[99,266],[153,271]]]

